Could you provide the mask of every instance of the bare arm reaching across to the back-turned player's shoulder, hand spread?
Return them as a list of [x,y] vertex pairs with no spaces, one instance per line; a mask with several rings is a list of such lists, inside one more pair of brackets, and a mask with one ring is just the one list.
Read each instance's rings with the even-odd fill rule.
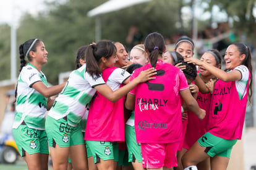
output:
[[119,100],[122,96],[126,95],[132,88],[134,88],[136,85],[142,82],[147,82],[148,80],[153,80],[155,77],[151,77],[152,75],[156,74],[156,70],[154,68],[150,68],[147,70],[143,70],[140,72],[139,76],[136,77],[134,80],[132,80],[130,83],[125,85],[124,87],[121,87],[115,91],[111,90],[111,88],[108,85],[98,85],[95,87],[95,89],[101,93],[101,95],[105,96],[108,100],[112,102],[116,102]]

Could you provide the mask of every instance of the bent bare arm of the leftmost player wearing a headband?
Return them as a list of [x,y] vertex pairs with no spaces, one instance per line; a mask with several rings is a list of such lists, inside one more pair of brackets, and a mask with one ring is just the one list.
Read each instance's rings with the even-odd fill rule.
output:
[[60,85],[54,85],[53,87],[46,87],[43,82],[35,82],[32,87],[35,88],[36,91],[41,93],[41,95],[49,98],[50,96],[57,95],[61,92],[62,88],[65,87],[66,83],[62,83]]

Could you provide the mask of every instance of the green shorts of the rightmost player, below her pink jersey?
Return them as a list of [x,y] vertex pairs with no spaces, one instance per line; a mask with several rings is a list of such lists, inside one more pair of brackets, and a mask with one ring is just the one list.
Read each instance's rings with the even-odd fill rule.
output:
[[215,135],[207,132],[201,138],[198,139],[198,143],[201,147],[206,147],[205,153],[209,156],[224,156],[230,158],[231,150],[236,144],[237,139],[226,140],[224,138],[216,137]]

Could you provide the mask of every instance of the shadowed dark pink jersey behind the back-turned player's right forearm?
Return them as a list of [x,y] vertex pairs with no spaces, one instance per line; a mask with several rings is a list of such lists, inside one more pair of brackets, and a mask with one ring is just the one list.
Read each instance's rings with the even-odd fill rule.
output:
[[187,121],[187,129],[184,137],[183,148],[189,150],[192,145],[197,142],[208,131],[209,109],[211,104],[211,93],[202,94],[198,91],[197,103],[201,109],[206,111],[205,118],[198,119],[195,113],[188,112],[189,119]]

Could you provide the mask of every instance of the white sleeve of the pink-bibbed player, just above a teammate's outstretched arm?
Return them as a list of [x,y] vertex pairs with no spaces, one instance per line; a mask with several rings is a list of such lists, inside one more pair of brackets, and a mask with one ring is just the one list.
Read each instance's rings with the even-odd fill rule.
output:
[[126,79],[128,79],[130,77],[129,72],[127,72],[124,69],[121,68],[117,68],[115,69],[111,75],[108,78],[108,81],[110,82],[116,82],[119,84],[122,84]]

